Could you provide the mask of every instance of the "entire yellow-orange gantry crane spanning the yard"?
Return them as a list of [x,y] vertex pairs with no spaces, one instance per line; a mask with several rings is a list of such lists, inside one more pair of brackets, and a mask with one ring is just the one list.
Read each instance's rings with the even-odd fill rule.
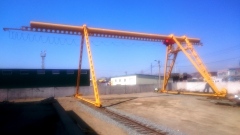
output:
[[[3,28],[4,30],[22,30],[22,31],[32,31],[32,32],[46,32],[46,33],[57,33],[57,34],[70,34],[70,35],[80,35],[81,46],[80,46],[80,59],[79,59],[79,68],[78,68],[78,77],[77,77],[77,86],[75,97],[91,104],[94,104],[97,107],[101,107],[101,101],[98,92],[97,79],[95,75],[94,63],[90,48],[90,36],[94,37],[103,37],[103,38],[120,38],[120,39],[130,39],[130,40],[142,40],[142,41],[151,41],[151,42],[162,42],[166,45],[166,62],[164,68],[164,80],[160,92],[162,93],[178,93],[176,91],[167,90],[168,80],[171,76],[174,63],[176,61],[177,55],[182,51],[198,72],[203,76],[204,80],[212,88],[213,93],[191,93],[191,92],[182,92],[182,94],[192,94],[192,95],[204,95],[204,96],[216,96],[216,97],[225,97],[227,94],[226,89],[219,90],[213,80],[211,75],[208,73],[206,66],[203,64],[202,60],[195,51],[193,45],[200,45],[200,39],[189,38],[186,36],[177,37],[173,34],[171,35],[159,35],[159,34],[147,34],[139,32],[129,32],[129,31],[119,31],[119,30],[110,30],[110,29],[100,29],[83,26],[72,26],[72,25],[63,25],[63,24],[53,24],[45,22],[30,22],[30,27],[23,26],[21,28]],[[84,40],[87,47],[88,61],[90,65],[90,73],[93,84],[95,101],[83,98],[79,93],[79,82],[80,82],[80,72],[82,65],[82,54],[83,54],[83,45]]]

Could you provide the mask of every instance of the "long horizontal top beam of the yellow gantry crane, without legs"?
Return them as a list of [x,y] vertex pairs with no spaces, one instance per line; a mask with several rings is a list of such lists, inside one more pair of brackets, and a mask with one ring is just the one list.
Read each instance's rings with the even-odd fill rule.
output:
[[[9,30],[11,28],[4,28],[4,30]],[[159,34],[148,34],[121,30],[111,30],[102,28],[87,27],[89,36],[94,37],[105,37],[105,38],[121,38],[121,39],[131,39],[131,40],[143,40],[143,41],[154,41],[163,42],[166,39],[170,39],[169,35],[159,35]],[[83,26],[73,26],[73,25],[63,25],[45,22],[30,22],[30,27],[22,27],[21,29],[12,30],[23,30],[23,31],[35,31],[35,32],[47,32],[47,33],[58,33],[58,34],[72,34],[72,35],[82,35]],[[184,37],[176,37],[181,43],[185,43]],[[200,39],[198,38],[188,38],[189,41],[194,45],[201,45]]]

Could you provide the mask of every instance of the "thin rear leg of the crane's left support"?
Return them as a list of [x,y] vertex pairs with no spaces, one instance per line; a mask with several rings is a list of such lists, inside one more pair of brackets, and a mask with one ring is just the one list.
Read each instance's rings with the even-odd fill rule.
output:
[[75,95],[78,95],[79,92],[79,84],[81,77],[81,69],[82,69],[82,55],[83,55],[83,44],[84,44],[84,34],[82,33],[81,46],[80,46],[80,56],[79,56],[79,65],[78,65],[78,75],[77,75],[77,87]]

